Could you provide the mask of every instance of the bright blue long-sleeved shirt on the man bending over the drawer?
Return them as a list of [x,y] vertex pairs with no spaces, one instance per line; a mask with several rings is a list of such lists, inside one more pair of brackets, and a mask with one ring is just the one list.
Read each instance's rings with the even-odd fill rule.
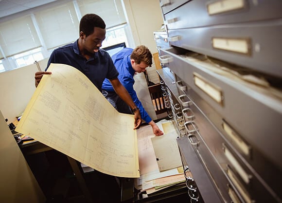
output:
[[[127,90],[127,92],[130,94],[132,100],[134,101],[135,105],[139,108],[141,118],[149,123],[152,119],[148,115],[148,113],[143,108],[141,102],[139,101],[137,94],[135,90],[133,89],[134,85],[134,79],[133,76],[135,74],[135,71],[132,68],[131,61],[130,61],[130,55],[133,52],[133,49],[131,48],[124,48],[123,50],[119,51],[118,53],[112,55],[112,60],[114,61],[114,64],[116,66],[116,69],[119,72],[119,80]],[[114,89],[108,79],[105,79],[102,85],[102,89],[106,90],[107,92],[114,92]]]

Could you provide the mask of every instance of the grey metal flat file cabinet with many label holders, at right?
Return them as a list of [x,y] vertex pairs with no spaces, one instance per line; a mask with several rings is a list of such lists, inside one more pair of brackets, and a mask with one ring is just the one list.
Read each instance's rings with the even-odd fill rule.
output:
[[282,1],[160,0],[189,201],[282,203]]

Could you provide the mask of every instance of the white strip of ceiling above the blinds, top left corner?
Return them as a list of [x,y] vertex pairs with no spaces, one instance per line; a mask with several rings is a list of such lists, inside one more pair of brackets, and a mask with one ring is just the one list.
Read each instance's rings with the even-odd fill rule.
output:
[[0,18],[16,14],[55,0],[0,0]]

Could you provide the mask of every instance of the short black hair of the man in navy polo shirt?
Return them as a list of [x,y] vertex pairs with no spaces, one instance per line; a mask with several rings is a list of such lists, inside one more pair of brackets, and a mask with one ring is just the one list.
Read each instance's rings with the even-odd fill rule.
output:
[[84,15],[79,23],[79,32],[83,32],[86,37],[94,32],[94,27],[106,28],[104,20],[96,14]]

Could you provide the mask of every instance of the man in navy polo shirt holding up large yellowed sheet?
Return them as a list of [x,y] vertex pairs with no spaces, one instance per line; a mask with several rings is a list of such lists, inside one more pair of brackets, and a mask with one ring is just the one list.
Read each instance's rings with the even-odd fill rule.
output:
[[102,83],[107,78],[117,94],[134,111],[134,129],[137,129],[141,125],[140,111],[119,81],[119,73],[110,55],[106,51],[99,49],[105,38],[106,24],[104,20],[95,14],[83,16],[79,24],[79,38],[74,43],[59,47],[52,52],[45,72],[35,73],[35,86],[37,87],[43,74],[51,74],[51,72],[47,72],[51,63],[67,64],[78,69],[101,92]]

